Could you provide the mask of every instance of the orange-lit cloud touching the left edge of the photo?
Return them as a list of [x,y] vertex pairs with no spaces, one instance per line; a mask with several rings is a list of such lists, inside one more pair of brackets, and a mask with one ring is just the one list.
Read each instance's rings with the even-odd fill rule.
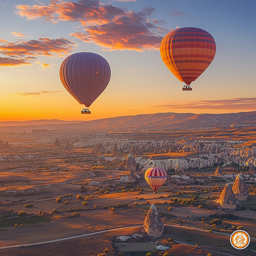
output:
[[70,54],[73,46],[76,45],[67,38],[50,39],[47,37],[39,37],[38,40],[21,39],[16,42],[2,40],[2,42],[5,43],[0,45],[0,54],[5,56],[0,57],[2,66],[31,64],[38,55],[54,56],[57,54],[62,57],[64,54]]

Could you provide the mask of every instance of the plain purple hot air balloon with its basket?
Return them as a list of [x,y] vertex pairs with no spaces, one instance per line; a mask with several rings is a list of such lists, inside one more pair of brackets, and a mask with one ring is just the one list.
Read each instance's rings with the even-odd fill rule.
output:
[[88,107],[103,92],[110,80],[110,66],[100,55],[77,52],[63,60],[59,76],[66,90],[80,103],[81,113],[90,114]]

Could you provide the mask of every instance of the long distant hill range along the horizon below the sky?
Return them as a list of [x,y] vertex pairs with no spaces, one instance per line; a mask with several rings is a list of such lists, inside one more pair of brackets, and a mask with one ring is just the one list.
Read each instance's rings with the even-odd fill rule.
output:
[[47,129],[54,131],[153,131],[153,130],[184,130],[202,127],[222,127],[235,124],[237,127],[256,125],[256,111],[223,113],[223,114],[194,114],[194,113],[154,113],[117,116],[90,121],[64,120],[34,120],[24,122],[0,122],[1,131],[32,131]]

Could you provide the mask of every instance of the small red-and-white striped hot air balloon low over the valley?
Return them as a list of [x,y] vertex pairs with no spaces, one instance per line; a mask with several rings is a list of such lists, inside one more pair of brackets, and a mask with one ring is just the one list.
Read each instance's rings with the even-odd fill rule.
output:
[[155,191],[165,182],[167,173],[164,169],[152,167],[145,171],[145,180]]

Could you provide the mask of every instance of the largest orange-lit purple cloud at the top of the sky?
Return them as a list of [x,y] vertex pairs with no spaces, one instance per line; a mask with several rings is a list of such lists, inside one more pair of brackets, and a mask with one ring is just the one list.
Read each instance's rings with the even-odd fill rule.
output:
[[106,50],[159,49],[162,35],[168,31],[157,26],[159,21],[156,19],[150,22],[148,17],[154,11],[152,7],[134,12],[99,0],[51,0],[49,5],[21,4],[16,8],[16,12],[27,19],[80,22],[84,32],[73,32],[71,36],[96,43]]

